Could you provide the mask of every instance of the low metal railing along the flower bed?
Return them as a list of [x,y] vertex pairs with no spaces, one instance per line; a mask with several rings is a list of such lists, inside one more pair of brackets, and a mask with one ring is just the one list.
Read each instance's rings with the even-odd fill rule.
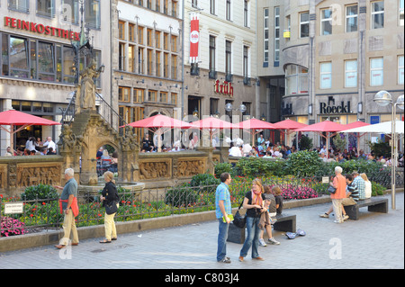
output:
[[[371,181],[391,184],[391,178],[379,178],[368,175]],[[235,177],[229,185],[230,200],[233,207],[242,202],[245,194],[251,189],[251,179]],[[321,177],[268,177],[263,179],[264,185],[277,185],[283,191],[284,200],[300,200],[319,197],[326,192],[328,184],[322,184]],[[388,184],[388,186],[390,186]],[[120,207],[115,216],[116,221],[143,220],[171,216],[183,213],[195,213],[215,210],[215,190],[217,185],[175,186],[166,188],[129,191],[118,186]],[[403,177],[398,187],[403,188]],[[100,189],[101,191],[101,189]],[[83,193],[78,196],[80,214],[76,217],[78,227],[103,224],[104,210],[99,200],[100,193]],[[9,202],[23,203],[22,214],[4,214],[4,205]],[[58,199],[39,199],[23,201],[19,197],[2,198],[1,236],[5,233],[31,232],[38,229],[60,229],[63,215],[60,214]],[[4,223],[6,220],[9,225]],[[14,220],[14,221],[13,221]],[[19,225],[23,223],[23,225]]]

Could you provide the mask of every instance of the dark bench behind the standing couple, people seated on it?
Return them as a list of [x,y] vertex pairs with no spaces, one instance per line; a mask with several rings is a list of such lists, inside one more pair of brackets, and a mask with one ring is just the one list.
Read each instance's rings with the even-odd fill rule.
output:
[[[273,224],[273,229],[278,230],[278,231],[290,231],[290,232],[295,232],[296,231],[296,215],[289,215],[289,214],[277,214],[275,216],[275,223]],[[245,242],[246,238],[246,228],[245,229],[239,229],[235,225],[233,225],[233,222],[230,222],[229,224],[229,229],[228,229],[228,239],[227,241],[233,242],[233,243],[238,243],[238,244],[243,244]]]

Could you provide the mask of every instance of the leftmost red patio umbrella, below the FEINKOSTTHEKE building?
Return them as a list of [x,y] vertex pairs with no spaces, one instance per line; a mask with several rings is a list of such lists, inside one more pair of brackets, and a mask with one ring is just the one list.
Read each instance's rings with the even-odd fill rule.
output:
[[[53,126],[59,125],[57,121],[50,121],[41,117],[37,117],[25,112],[19,112],[15,110],[9,110],[0,112],[0,129],[10,133],[10,146],[12,148],[12,154],[14,155],[14,133],[25,129],[26,127],[36,126]],[[7,130],[3,126],[10,126],[10,130]],[[14,130],[14,126],[21,126],[17,130]]]

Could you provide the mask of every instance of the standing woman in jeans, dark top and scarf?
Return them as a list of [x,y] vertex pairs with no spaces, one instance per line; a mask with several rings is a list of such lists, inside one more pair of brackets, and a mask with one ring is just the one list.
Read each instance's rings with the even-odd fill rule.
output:
[[263,195],[264,189],[260,179],[256,178],[252,182],[252,190],[245,194],[243,200],[243,208],[247,209],[246,226],[247,226],[247,238],[240,250],[239,261],[243,262],[247,256],[247,251],[252,247],[252,259],[265,260],[258,255],[258,246],[260,231],[259,222],[262,212],[267,211],[264,205],[265,197]]

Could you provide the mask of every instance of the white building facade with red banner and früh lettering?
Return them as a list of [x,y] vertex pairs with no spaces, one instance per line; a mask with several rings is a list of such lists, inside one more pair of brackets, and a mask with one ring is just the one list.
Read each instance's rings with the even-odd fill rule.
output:
[[[196,117],[188,120],[216,116],[238,122],[259,116],[256,3],[185,1],[183,117],[194,113]],[[196,61],[191,58],[193,19],[199,21]],[[228,103],[232,105],[229,112]]]

